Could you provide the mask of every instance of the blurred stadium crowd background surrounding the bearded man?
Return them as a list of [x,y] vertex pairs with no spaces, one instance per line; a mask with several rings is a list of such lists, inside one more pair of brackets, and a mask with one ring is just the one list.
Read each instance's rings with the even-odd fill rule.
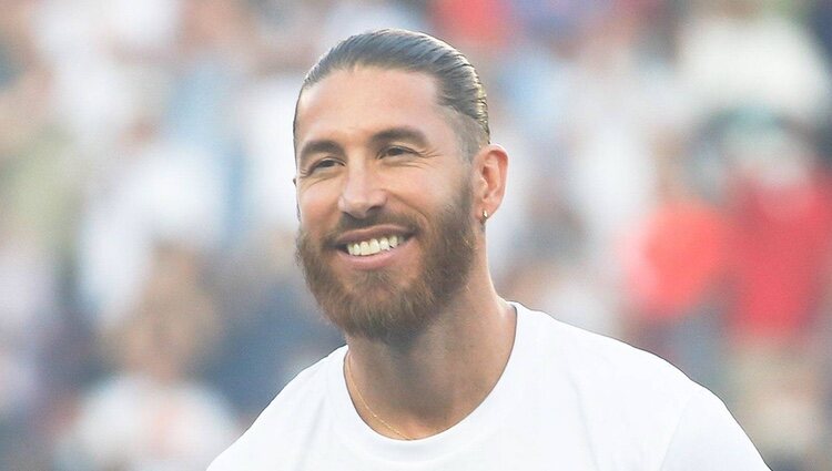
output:
[[832,470],[832,1],[0,0],[0,469],[203,470],[343,342],[291,120],[348,34],[463,50],[507,298],[667,358]]

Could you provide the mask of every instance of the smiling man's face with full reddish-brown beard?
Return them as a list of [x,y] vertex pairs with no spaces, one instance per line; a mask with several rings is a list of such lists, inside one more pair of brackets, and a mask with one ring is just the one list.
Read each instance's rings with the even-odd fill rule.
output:
[[375,68],[307,89],[296,130],[297,255],[347,335],[412,336],[465,285],[470,166],[434,80]]

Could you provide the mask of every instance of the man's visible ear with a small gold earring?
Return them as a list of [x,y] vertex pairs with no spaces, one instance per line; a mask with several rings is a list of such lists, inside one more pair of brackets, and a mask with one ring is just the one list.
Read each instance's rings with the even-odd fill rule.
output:
[[[485,219],[497,212],[506,194],[508,153],[497,144],[488,144],[474,156],[474,217]],[[484,213],[488,214],[484,217]]]

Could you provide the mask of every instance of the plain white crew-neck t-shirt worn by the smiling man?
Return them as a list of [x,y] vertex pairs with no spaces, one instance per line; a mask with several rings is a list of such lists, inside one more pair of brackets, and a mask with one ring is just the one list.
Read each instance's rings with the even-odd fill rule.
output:
[[209,471],[768,470],[722,402],[660,358],[515,304],[494,390],[436,436],[372,430],[349,399],[346,347],[303,371]]

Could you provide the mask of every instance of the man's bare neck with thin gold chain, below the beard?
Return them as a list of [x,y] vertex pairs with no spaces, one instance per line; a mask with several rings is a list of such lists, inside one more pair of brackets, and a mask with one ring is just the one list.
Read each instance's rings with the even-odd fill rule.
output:
[[404,344],[347,338],[353,403],[381,434],[415,439],[453,427],[485,400],[508,362],[516,316],[487,274],[434,319]]

